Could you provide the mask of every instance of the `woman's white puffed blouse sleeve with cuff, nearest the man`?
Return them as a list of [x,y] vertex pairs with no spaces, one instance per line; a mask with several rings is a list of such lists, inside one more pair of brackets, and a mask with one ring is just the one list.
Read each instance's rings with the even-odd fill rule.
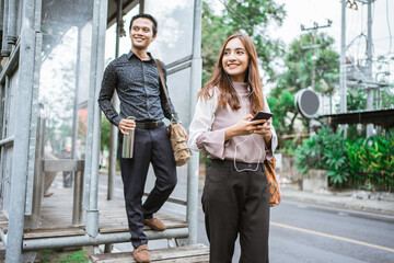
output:
[[212,98],[205,100],[199,98],[196,112],[189,127],[188,144],[192,150],[207,150],[209,153],[223,159],[224,129],[211,130],[215,121],[215,112],[218,107],[218,94],[213,91]]

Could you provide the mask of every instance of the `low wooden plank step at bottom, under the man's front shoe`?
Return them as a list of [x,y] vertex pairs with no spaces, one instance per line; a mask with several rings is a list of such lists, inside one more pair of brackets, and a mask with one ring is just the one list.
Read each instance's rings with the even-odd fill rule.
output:
[[[189,244],[170,249],[150,250],[152,262],[158,263],[208,263],[209,248]],[[105,253],[90,256],[93,263],[135,263],[131,252]]]

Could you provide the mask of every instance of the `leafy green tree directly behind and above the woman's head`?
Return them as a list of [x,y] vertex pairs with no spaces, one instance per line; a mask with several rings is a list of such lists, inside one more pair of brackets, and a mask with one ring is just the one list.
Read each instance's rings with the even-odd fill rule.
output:
[[275,77],[274,61],[282,54],[283,44],[271,39],[266,30],[269,23],[282,23],[283,4],[274,0],[221,1],[221,15],[215,14],[207,2],[202,2],[202,83],[206,83],[218,60],[224,41],[235,32],[246,33],[253,39],[264,73]]

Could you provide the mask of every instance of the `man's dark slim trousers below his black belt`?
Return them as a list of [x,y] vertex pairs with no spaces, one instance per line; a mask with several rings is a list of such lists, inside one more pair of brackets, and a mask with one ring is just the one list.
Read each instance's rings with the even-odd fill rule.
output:
[[[162,207],[176,185],[176,165],[165,129],[165,125],[152,129],[136,128],[132,159],[121,158],[123,134],[119,133],[120,170],[134,248],[148,243],[143,233],[143,219],[152,218],[152,214]],[[150,163],[157,181],[142,205]]]

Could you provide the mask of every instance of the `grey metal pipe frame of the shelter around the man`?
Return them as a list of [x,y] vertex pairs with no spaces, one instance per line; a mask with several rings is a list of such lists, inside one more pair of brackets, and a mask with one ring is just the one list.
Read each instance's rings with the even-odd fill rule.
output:
[[[83,210],[85,211],[85,235],[74,237],[37,238],[25,240],[23,238],[26,224],[26,216],[33,214],[33,191],[34,170],[36,162],[36,148],[40,147],[37,141],[39,130],[38,113],[39,104],[38,75],[39,54],[43,43],[40,32],[42,0],[2,0],[1,16],[3,21],[2,49],[3,68],[0,72],[0,186],[3,186],[4,179],[10,182],[9,202],[12,210],[8,215],[8,232],[0,231],[1,241],[7,248],[5,262],[24,262],[28,259],[28,251],[74,247],[96,245],[103,243],[116,243],[130,240],[128,232],[100,233],[99,232],[99,164],[100,164],[100,136],[101,136],[101,111],[97,98],[101,87],[101,79],[104,71],[104,46],[107,28],[108,4],[113,1],[92,2],[92,46],[90,49],[90,87],[88,101],[88,132],[86,153],[84,167],[78,160],[69,160],[69,167],[73,171],[83,170]],[[125,4],[125,2],[127,4]],[[140,12],[143,11],[143,0],[124,0],[126,8],[138,2]],[[20,5],[19,5],[20,4]],[[19,9],[18,9],[19,5]],[[112,7],[112,5],[111,5]],[[20,11],[20,16],[16,11]],[[120,9],[119,11],[123,11]],[[118,12],[119,12],[118,11]],[[201,0],[194,1],[194,25],[193,25],[193,50],[192,55],[167,65],[169,75],[190,67],[190,96],[189,116],[194,115],[195,101],[201,87]],[[20,21],[18,21],[18,16]],[[18,32],[20,22],[20,33]],[[7,39],[7,42],[5,42]],[[7,58],[8,57],[8,58]],[[9,128],[10,116],[1,111],[8,108],[8,92],[10,76],[19,71],[16,102],[14,114],[14,133],[5,136]],[[11,169],[4,171],[5,148],[12,148]],[[109,185],[108,185],[109,186]],[[1,188],[0,187],[0,188]],[[187,205],[187,228],[167,229],[164,232],[147,231],[150,239],[187,238],[188,243],[197,242],[197,204],[198,204],[198,155],[193,155],[187,167],[187,201],[181,202]],[[179,203],[179,201],[175,201]]]

